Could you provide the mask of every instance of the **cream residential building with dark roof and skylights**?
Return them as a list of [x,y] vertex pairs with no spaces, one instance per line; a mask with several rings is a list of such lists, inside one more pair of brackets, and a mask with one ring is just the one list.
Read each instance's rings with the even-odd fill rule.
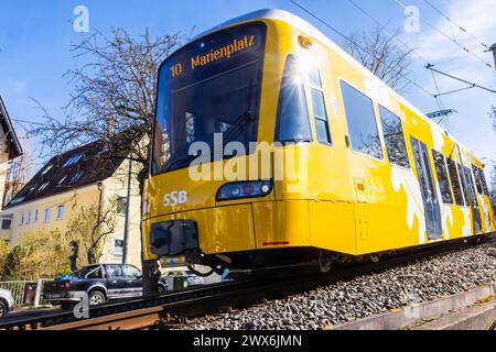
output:
[[[82,209],[99,209],[117,201],[116,228],[106,237],[101,263],[121,263],[128,201],[129,161],[111,158],[103,142],[93,142],[48,161],[7,205],[0,216],[0,238],[15,245],[29,233],[66,232]],[[136,175],[136,173],[131,173]],[[128,263],[141,267],[139,184],[131,176]]]

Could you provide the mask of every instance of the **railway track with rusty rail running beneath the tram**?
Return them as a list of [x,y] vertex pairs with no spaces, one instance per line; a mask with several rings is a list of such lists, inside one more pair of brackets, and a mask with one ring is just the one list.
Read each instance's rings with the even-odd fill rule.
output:
[[[395,266],[408,265],[420,258],[467,249],[481,239],[439,243],[428,249],[397,253],[378,263],[342,265],[327,275],[306,275],[280,280],[244,280],[216,284],[185,292],[168,293],[126,302],[115,302],[89,309],[88,319],[76,319],[73,311],[6,319],[0,330],[137,330],[184,326],[188,318],[218,314],[235,308],[285,298],[317,286],[356,276],[384,272]],[[492,238],[494,240],[494,237]]]

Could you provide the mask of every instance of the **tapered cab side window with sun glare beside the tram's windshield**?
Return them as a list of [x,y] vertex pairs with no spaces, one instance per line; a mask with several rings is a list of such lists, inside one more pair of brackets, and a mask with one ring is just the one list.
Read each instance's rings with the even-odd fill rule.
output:
[[276,141],[281,143],[312,142],[309,107],[299,58],[289,55],[281,82]]

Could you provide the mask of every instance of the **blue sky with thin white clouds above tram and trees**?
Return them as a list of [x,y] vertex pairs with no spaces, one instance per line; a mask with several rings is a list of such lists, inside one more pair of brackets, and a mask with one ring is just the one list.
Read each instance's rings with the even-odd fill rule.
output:
[[[355,0],[389,31],[402,28],[407,16],[395,0]],[[406,6],[417,6],[421,18],[443,33],[459,40],[474,53],[482,52],[478,42],[493,44],[496,41],[496,1],[494,0],[430,0],[456,23],[465,26],[471,35],[464,34],[445,19],[429,8],[423,0],[401,0]],[[375,23],[354,8],[347,0],[299,0],[308,9],[319,13],[333,26],[348,34],[353,30],[368,31]],[[198,34],[223,21],[249,11],[279,8],[303,16],[336,42],[342,40],[328,29],[316,23],[311,16],[293,6],[289,0],[2,0],[0,23],[0,95],[3,97],[12,119],[36,121],[41,116],[29,99],[35,98],[53,114],[62,116],[62,107],[67,102],[68,86],[63,74],[75,66],[69,52],[72,43],[83,35],[73,31],[72,21],[76,6],[89,10],[90,29],[107,32],[110,28],[123,28],[133,35],[149,28],[154,35],[183,32]],[[477,41],[473,38],[477,37]],[[464,55],[464,52],[438,31],[421,22],[420,32],[403,33],[402,40],[416,48],[422,57],[438,64],[438,68],[476,80],[488,87],[496,87],[496,72],[484,66],[481,61],[492,63],[488,54]],[[423,68],[423,62],[416,59],[412,78],[435,92],[432,76]],[[438,77],[441,91],[463,87],[448,78]],[[436,110],[435,101],[421,90],[412,87],[406,95],[424,112]],[[461,142],[471,147],[489,164],[496,162],[496,135],[487,112],[496,105],[496,95],[471,89],[462,94],[446,96],[446,108],[460,113],[452,117],[449,129]],[[19,127],[19,124],[17,123]],[[21,129],[21,127],[19,127]],[[36,147],[35,141],[23,141]]]

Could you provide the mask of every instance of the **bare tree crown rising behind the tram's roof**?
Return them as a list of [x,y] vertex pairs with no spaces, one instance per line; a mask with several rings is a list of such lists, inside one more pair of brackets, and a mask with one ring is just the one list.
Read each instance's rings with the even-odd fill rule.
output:
[[410,86],[406,77],[413,51],[397,44],[400,33],[389,34],[384,26],[376,26],[369,34],[356,31],[342,47],[391,88],[405,92]]

